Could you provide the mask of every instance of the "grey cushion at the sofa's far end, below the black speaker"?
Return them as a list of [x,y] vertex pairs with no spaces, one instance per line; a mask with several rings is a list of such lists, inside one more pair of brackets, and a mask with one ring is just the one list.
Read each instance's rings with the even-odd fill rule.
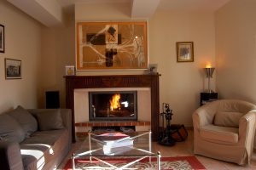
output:
[[37,118],[38,126],[41,131],[64,128],[61,111],[59,109],[40,111],[37,113]]

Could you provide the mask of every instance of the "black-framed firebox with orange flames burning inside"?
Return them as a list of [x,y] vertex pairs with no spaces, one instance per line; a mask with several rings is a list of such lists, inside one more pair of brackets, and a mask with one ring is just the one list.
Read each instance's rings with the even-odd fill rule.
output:
[[137,121],[137,91],[89,92],[90,121]]

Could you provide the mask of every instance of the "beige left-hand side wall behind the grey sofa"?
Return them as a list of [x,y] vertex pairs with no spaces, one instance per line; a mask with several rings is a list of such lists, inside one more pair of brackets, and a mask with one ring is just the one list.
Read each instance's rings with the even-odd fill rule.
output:
[[[5,53],[0,53],[0,113],[17,105],[36,108],[41,25],[6,1],[0,1],[0,24],[5,26]],[[5,80],[4,58],[21,59],[22,79]]]

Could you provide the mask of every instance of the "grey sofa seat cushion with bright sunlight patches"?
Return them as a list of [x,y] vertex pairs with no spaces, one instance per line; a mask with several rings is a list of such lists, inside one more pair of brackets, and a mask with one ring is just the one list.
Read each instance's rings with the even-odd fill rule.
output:
[[67,148],[67,138],[68,132],[65,128],[33,133],[31,138],[20,143],[24,170],[40,169],[50,161],[60,159],[62,150]]

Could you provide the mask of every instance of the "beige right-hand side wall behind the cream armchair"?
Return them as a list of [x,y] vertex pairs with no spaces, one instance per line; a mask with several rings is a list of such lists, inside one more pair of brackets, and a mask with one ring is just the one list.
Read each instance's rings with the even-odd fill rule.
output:
[[232,0],[216,14],[217,88],[256,104],[256,1]]

